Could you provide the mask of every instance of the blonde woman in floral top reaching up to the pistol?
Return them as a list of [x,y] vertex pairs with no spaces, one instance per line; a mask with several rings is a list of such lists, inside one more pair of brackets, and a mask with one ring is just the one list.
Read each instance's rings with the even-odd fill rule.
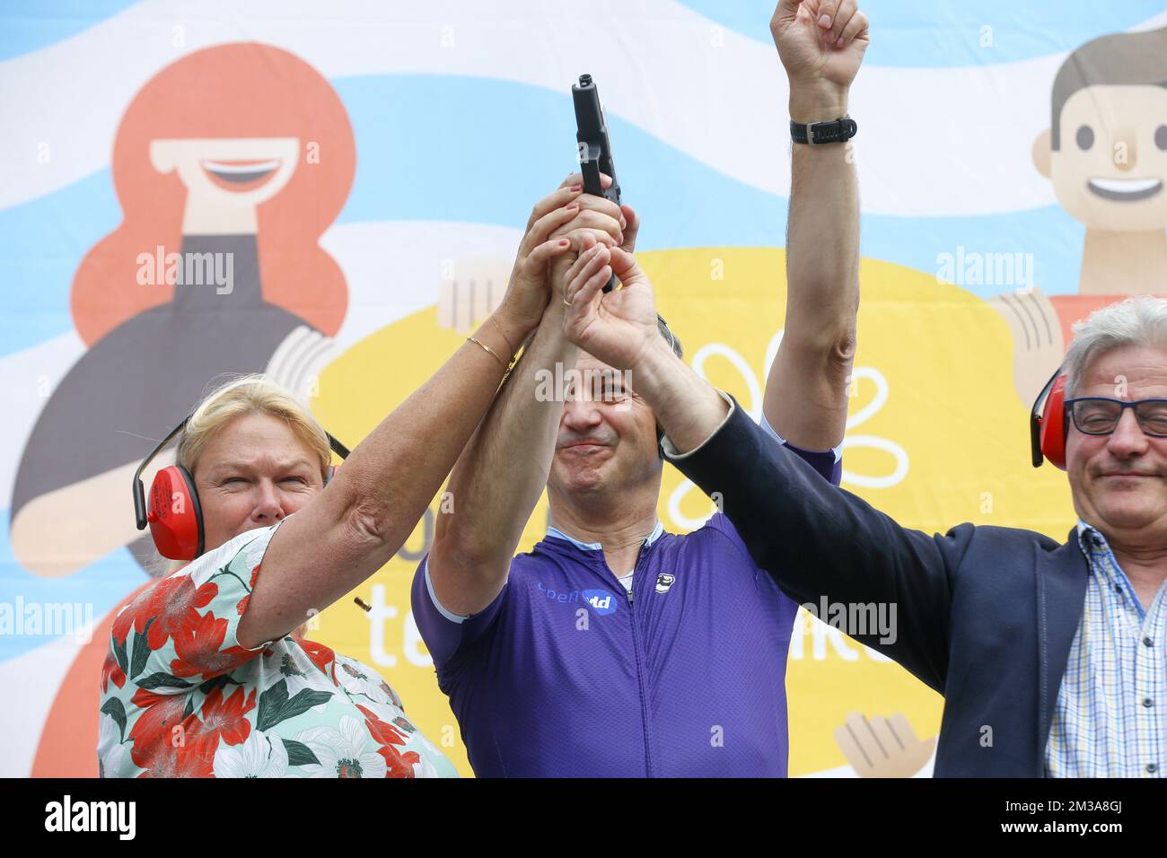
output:
[[543,200],[499,308],[331,479],[327,433],[271,379],[239,378],[198,405],[176,460],[200,551],[116,616],[103,776],[455,774],[376,671],[293,630],[404,544],[538,326],[550,260],[584,233],[615,240],[606,204],[571,180]]

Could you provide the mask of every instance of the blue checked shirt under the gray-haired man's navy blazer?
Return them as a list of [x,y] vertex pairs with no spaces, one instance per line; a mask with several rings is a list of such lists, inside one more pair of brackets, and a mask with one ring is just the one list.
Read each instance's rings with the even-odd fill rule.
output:
[[1144,609],[1105,537],[1078,522],[1086,599],[1046,745],[1049,777],[1161,777],[1167,766],[1167,583]]

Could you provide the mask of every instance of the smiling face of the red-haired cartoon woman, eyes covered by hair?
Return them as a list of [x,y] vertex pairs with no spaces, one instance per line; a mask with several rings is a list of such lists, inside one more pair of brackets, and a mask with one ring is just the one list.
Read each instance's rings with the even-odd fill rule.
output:
[[196,196],[224,207],[253,207],[275,196],[292,179],[300,152],[294,137],[152,140],[151,163],[177,170]]

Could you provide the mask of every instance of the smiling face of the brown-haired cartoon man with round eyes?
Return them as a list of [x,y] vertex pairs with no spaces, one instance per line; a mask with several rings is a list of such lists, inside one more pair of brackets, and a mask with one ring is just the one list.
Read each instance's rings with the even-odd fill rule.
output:
[[1070,215],[1107,231],[1167,226],[1167,88],[1085,86],[1058,130],[1056,152],[1048,131],[1037,138],[1034,163]]

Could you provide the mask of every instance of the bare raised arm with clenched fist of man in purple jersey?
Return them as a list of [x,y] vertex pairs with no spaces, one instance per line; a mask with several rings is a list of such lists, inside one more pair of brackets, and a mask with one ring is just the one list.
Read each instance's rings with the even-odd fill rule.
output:
[[[770,33],[790,82],[790,119],[845,116],[868,43],[857,0],[781,0]],[[843,441],[847,423],[859,311],[859,188],[850,144],[792,146],[787,320],[763,411],[795,446],[829,449]]]

